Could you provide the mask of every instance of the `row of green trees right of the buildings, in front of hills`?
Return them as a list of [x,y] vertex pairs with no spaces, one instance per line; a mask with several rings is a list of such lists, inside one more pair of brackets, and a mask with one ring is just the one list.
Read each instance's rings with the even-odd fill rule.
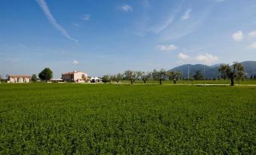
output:
[[[240,84],[240,81],[245,79],[245,68],[239,62],[233,62],[233,65],[222,64],[218,69],[219,77],[224,80],[230,79],[231,86],[234,86],[234,80],[236,79]],[[188,77],[190,78],[190,76]],[[102,77],[103,83],[108,83],[111,81],[116,81],[119,84],[119,81],[130,81],[130,84],[134,84],[134,81],[143,81],[144,84],[147,84],[147,81],[159,81],[159,84],[162,84],[162,81],[173,81],[174,84],[177,84],[177,81],[183,80],[183,73],[181,71],[166,71],[165,69],[153,71],[131,71],[127,70],[124,73],[114,74],[114,75],[104,75]],[[193,74],[191,79],[202,80],[204,76],[201,71],[196,71]]]

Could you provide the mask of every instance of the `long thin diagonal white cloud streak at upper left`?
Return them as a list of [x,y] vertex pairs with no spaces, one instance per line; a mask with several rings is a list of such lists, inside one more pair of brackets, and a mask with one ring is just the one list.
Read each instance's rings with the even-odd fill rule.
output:
[[45,0],[36,0],[36,2],[42,8],[42,11],[45,13],[45,16],[48,18],[49,22],[51,23],[52,26],[54,26],[55,29],[60,31],[61,34],[64,35],[69,40],[78,42],[76,39],[70,37],[69,33],[66,32],[66,29],[64,29],[63,26],[57,23],[57,20],[55,20],[54,16],[51,14],[51,11],[49,10]]

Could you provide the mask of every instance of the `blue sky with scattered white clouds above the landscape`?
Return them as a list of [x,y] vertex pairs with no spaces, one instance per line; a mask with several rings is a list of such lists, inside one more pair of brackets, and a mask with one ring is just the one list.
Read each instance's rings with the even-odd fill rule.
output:
[[256,0],[2,0],[0,74],[256,60]]

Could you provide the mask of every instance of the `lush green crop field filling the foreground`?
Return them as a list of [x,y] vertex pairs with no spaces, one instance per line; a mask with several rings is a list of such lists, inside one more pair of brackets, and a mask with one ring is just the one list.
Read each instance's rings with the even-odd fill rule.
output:
[[256,154],[256,87],[0,84],[0,154]]

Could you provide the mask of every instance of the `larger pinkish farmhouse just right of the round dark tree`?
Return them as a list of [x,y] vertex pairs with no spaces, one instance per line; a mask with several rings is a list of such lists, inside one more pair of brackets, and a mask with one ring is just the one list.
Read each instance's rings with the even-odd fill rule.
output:
[[61,75],[61,79],[67,82],[85,83],[87,81],[88,74],[81,71],[67,72]]

